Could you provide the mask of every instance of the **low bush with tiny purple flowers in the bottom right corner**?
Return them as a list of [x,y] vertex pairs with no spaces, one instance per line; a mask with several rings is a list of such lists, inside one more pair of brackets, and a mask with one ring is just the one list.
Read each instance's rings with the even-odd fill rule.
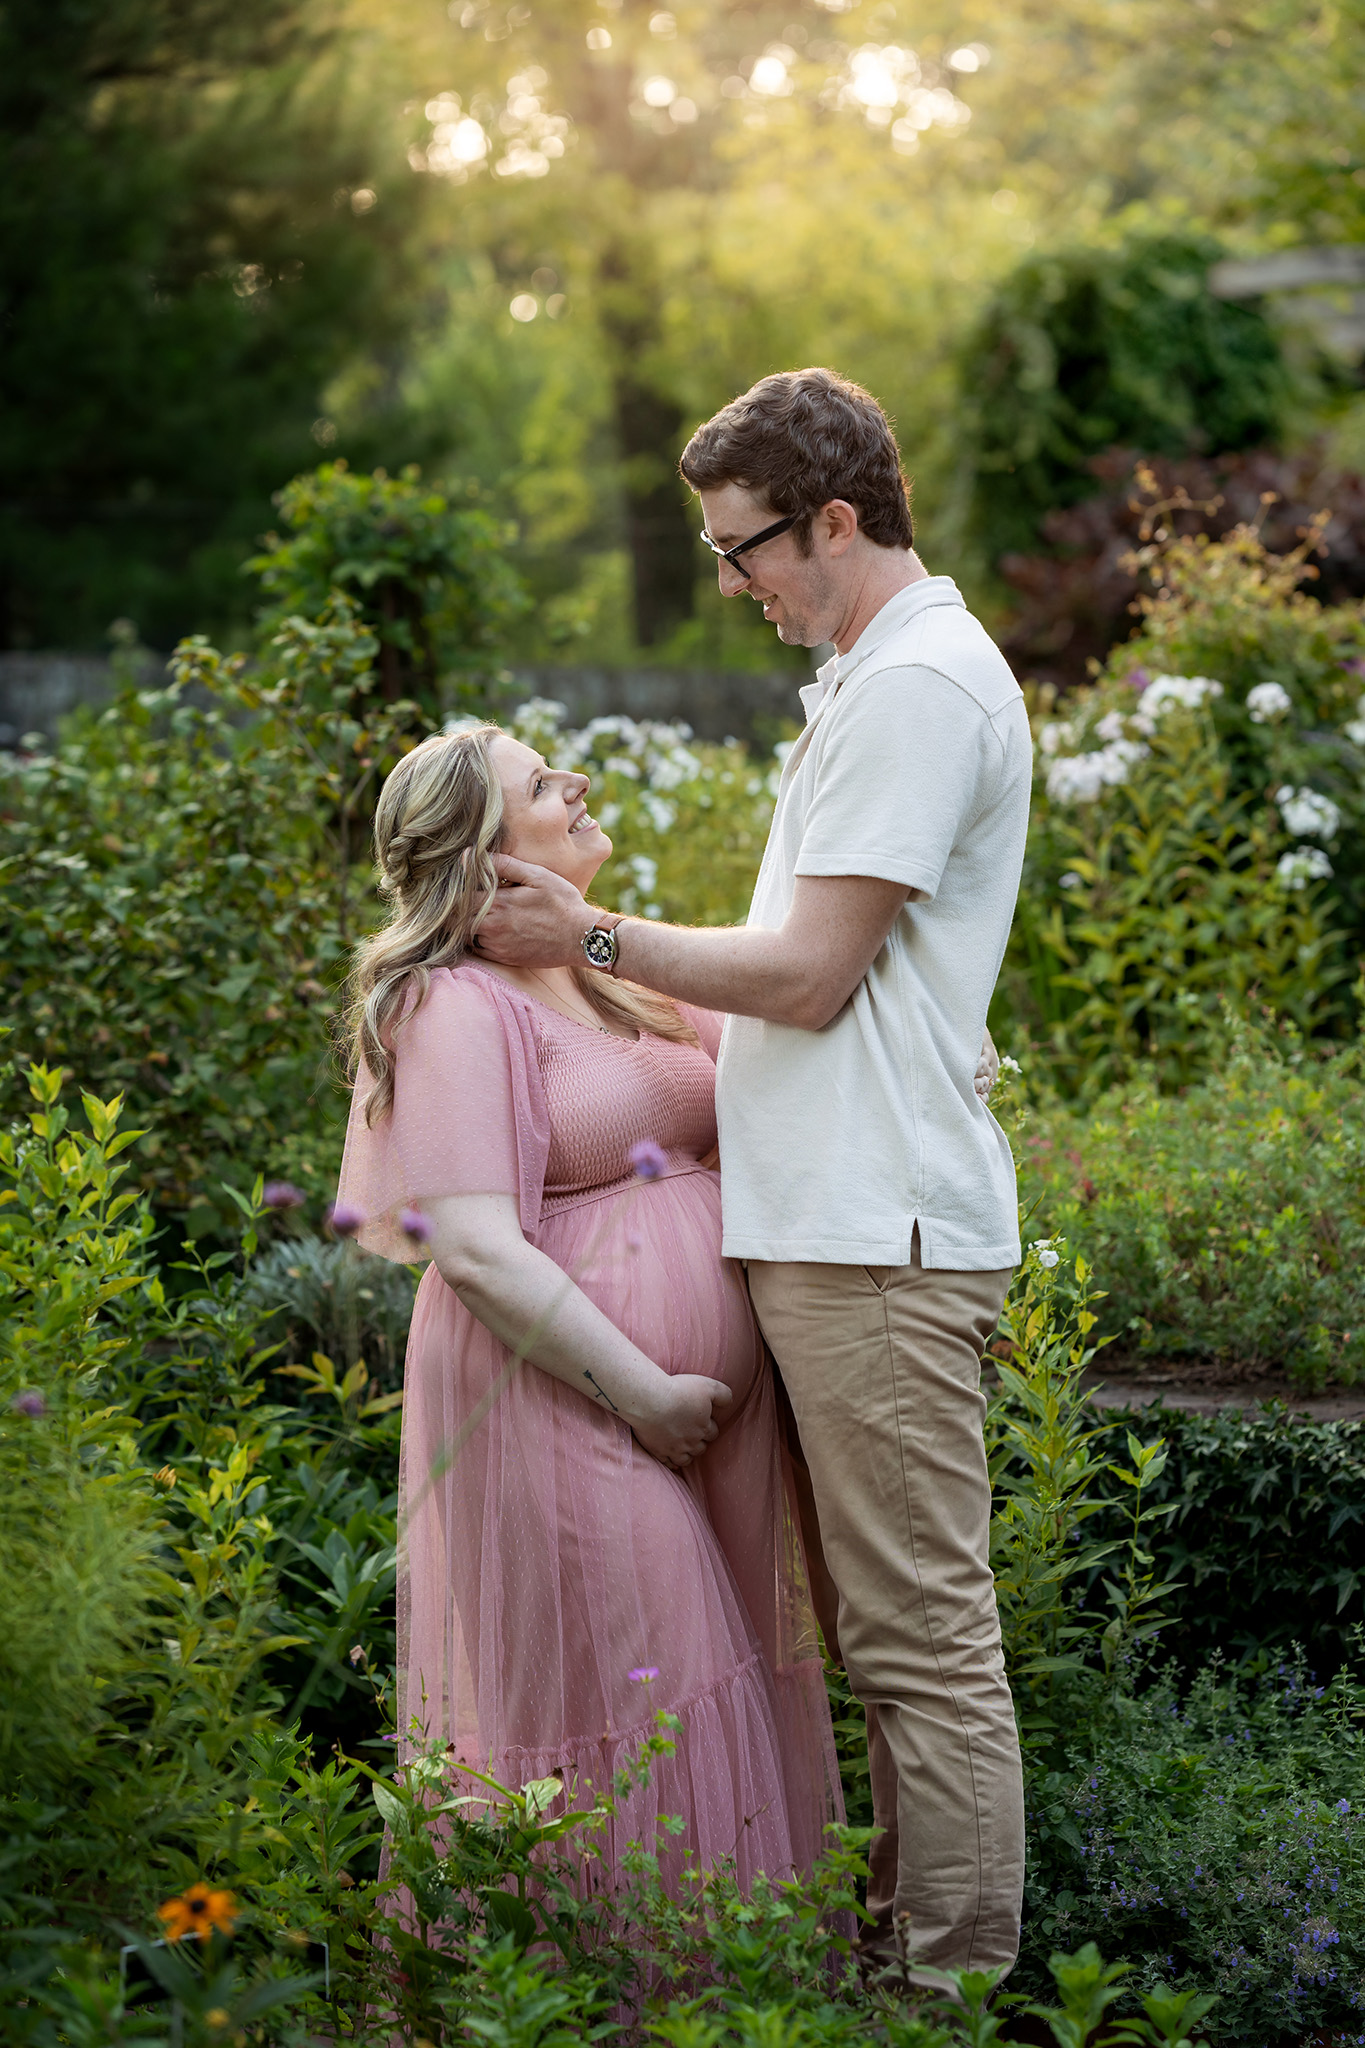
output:
[[1187,1694],[1158,1681],[1076,1714],[1029,1786],[1019,1982],[1103,1942],[1136,1982],[1218,1995],[1216,2042],[1365,2034],[1365,1688],[1293,1665]]

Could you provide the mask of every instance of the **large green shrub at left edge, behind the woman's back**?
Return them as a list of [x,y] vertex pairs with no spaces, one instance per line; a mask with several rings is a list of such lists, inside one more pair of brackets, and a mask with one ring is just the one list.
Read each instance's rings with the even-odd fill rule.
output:
[[141,1184],[201,1231],[231,1225],[221,1184],[258,1169],[315,1198],[336,1186],[329,1022],[372,915],[364,803],[411,743],[411,707],[375,702],[375,639],[344,596],[270,657],[248,676],[188,641],[170,688],[4,758],[16,1057],[125,1094],[151,1124]]

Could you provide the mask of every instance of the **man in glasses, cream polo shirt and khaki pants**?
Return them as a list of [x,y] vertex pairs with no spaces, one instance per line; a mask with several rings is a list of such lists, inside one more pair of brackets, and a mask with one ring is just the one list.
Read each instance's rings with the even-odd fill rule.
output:
[[[598,913],[505,883],[493,961],[593,967],[729,1012],[724,1251],[808,1464],[837,1653],[868,1710],[870,1944],[1013,1962],[1023,1790],[988,1565],[980,1356],[1019,1257],[1009,1147],[974,1090],[1029,807],[1023,698],[913,551],[886,416],[808,369],[688,442],[720,590],[837,653],[804,688],[741,930]],[[812,1554],[819,1589],[821,1563]],[[831,1645],[835,1649],[835,1645]]]

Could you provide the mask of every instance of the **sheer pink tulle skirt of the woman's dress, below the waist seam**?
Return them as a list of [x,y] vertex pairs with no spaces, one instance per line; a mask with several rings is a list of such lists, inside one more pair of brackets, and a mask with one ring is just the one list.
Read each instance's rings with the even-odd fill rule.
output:
[[[571,1386],[530,1364],[508,1376],[508,1350],[432,1266],[407,1346],[399,1729],[514,1788],[561,1776],[585,1804],[667,1708],[673,1755],[618,1804],[604,1882],[630,1841],[663,1849],[665,1874],[686,1853],[733,1862],[741,1884],[804,1872],[843,1808],[718,1178],[684,1165],[553,1204],[538,1243],[665,1372],[720,1378],[735,1401],[706,1456],[669,1473]],[[657,1837],[663,1815],[679,1837]]]

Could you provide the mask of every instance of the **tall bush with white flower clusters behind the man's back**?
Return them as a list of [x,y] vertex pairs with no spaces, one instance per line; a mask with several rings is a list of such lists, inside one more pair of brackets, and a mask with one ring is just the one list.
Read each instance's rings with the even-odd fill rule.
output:
[[997,1006],[1070,1090],[1144,1059],[1162,1085],[1193,1077],[1224,997],[1254,991],[1310,1030],[1345,1022],[1365,932],[1365,625],[1361,606],[1304,596],[1308,551],[1158,530],[1140,635],[1068,719],[1042,723]]

